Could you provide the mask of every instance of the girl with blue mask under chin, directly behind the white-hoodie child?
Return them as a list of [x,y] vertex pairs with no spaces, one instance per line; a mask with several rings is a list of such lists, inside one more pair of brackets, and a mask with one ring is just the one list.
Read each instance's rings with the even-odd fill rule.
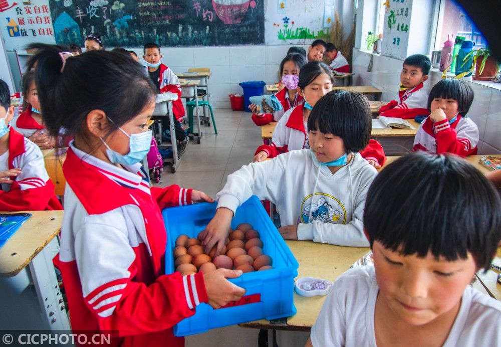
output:
[[[334,76],[327,65],[311,61],[299,72],[298,94],[305,102],[285,112],[277,123],[271,145],[261,145],[255,152],[254,161],[273,158],[290,150],[308,148],[308,117],[312,108],[325,94],[332,90]],[[332,115],[335,116],[334,111]],[[371,165],[379,168],[386,156],[381,144],[369,140],[369,144],[360,152]]]

